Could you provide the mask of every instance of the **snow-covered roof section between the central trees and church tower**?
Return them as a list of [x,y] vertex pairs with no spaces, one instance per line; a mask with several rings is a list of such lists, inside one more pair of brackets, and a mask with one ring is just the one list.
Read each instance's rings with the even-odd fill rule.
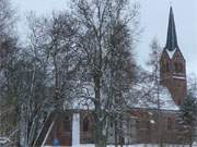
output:
[[132,108],[179,110],[179,107],[175,105],[169,89],[164,86],[155,86],[153,83],[146,85],[140,84],[134,91],[137,94],[132,95],[136,97],[136,101],[132,101],[130,105]]

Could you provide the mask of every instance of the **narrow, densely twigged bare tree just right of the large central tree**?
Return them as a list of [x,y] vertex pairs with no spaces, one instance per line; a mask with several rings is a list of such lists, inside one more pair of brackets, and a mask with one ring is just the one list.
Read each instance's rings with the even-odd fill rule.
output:
[[[129,29],[121,22],[113,23],[108,40],[108,59],[103,91],[106,94],[109,123],[114,124],[115,145],[124,144],[125,120],[130,100],[130,89],[136,78],[136,63],[132,56]],[[120,126],[120,127],[119,127]]]

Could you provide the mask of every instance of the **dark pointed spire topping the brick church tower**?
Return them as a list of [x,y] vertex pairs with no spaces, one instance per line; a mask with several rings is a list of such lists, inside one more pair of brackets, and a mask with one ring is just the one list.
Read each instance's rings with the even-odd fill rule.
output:
[[167,39],[166,39],[165,49],[173,51],[175,48],[178,48],[178,45],[177,45],[176,28],[175,28],[175,23],[174,23],[174,14],[173,14],[173,9],[171,7],[170,15],[169,15],[169,28],[167,28]]

